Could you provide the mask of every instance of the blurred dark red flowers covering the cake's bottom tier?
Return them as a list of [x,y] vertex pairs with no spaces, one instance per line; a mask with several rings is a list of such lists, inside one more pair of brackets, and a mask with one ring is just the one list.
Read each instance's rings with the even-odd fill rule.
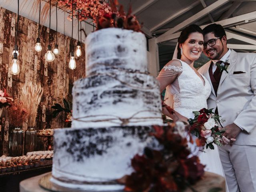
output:
[[161,150],[145,148],[143,155],[131,161],[134,172],[118,180],[125,191],[178,192],[190,187],[204,175],[197,156],[188,158],[186,137],[175,130],[175,124],[155,126],[152,133]]

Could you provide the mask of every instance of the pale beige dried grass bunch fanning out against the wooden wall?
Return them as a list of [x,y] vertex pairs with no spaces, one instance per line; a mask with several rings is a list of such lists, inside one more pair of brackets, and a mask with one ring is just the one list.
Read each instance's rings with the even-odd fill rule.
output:
[[41,101],[44,89],[40,84],[34,85],[32,82],[22,88],[21,100],[28,110],[28,126],[36,126],[36,114]]

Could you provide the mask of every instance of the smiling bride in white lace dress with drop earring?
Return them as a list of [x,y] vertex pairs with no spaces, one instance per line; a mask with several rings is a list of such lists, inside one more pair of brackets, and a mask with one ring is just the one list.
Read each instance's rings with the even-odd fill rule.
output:
[[[179,120],[187,122],[188,118],[194,118],[193,111],[207,108],[206,100],[210,96],[211,86],[194,68],[194,61],[200,57],[203,44],[202,29],[195,24],[186,27],[178,38],[178,53],[174,52],[174,58],[164,66],[157,77],[160,91],[166,88],[164,102],[175,110],[175,116],[167,110],[163,113],[172,119],[178,117]],[[192,154],[198,155],[200,162],[206,165],[206,171],[225,177],[215,144],[214,150],[204,149],[206,153],[199,152],[195,144],[189,144],[189,147]]]

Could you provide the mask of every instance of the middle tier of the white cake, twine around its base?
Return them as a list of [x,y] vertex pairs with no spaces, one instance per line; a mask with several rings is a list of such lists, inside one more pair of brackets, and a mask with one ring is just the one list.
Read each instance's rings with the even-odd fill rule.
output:
[[72,128],[162,124],[158,81],[142,73],[100,74],[76,81]]

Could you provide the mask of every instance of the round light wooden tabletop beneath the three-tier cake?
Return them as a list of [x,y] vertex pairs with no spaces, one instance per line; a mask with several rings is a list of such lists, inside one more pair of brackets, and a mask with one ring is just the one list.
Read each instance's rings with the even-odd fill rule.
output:
[[[63,188],[55,188],[50,182],[51,172],[35,176],[20,182],[20,192],[81,192],[81,190],[68,190]],[[44,186],[42,188],[40,185]],[[50,188],[51,190],[47,190]],[[225,179],[214,173],[206,172],[204,178],[197,182],[193,188],[197,192],[209,192],[210,189],[220,189],[216,190],[218,192],[225,192]],[[192,192],[191,189],[187,189],[184,192]]]

